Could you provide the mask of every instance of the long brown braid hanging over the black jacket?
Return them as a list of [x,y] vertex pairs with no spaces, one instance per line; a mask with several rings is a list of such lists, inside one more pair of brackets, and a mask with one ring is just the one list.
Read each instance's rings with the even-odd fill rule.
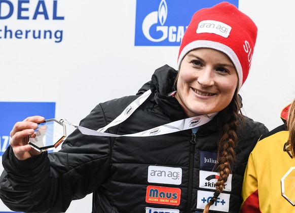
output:
[[[239,114],[240,113],[240,114]],[[219,194],[223,191],[224,185],[232,173],[233,164],[236,158],[235,146],[237,144],[237,129],[239,123],[243,121],[241,112],[241,100],[236,90],[232,101],[224,110],[219,112],[218,116],[218,150],[217,150],[217,172],[219,178],[216,182],[216,191],[204,208],[204,213],[209,212],[210,206],[216,201]]]

